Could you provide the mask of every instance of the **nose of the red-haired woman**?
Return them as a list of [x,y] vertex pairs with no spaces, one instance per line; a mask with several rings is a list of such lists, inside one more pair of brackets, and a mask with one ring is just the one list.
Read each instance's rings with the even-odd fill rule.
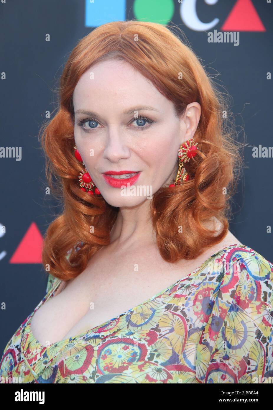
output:
[[119,130],[109,130],[103,158],[111,162],[118,162],[120,159],[130,158],[130,149],[127,146],[125,135]]

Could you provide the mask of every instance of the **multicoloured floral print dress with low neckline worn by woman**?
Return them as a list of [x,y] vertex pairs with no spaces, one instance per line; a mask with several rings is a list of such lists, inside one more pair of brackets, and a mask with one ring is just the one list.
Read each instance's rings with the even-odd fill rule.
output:
[[31,319],[61,283],[49,275],[46,296],[7,343],[0,383],[266,383],[273,376],[273,265],[246,245],[223,248],[87,333],[42,346]]

